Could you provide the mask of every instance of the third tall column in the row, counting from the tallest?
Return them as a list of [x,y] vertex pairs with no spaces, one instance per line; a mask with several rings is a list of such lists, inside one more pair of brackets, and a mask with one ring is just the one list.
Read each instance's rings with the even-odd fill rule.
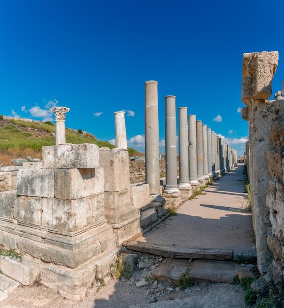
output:
[[179,187],[190,187],[188,168],[187,107],[178,108]]

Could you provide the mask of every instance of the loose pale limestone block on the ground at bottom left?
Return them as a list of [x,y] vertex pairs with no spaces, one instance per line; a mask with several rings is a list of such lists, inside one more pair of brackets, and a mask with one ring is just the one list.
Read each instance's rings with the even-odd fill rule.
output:
[[32,284],[39,274],[39,262],[25,256],[22,257],[22,261],[1,256],[0,268],[4,275],[26,286]]

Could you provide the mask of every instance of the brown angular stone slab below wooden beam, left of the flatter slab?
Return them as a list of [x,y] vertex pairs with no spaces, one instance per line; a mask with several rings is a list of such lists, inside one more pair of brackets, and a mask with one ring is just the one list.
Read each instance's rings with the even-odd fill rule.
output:
[[151,271],[151,277],[166,285],[178,285],[180,277],[184,276],[191,262],[186,259],[166,258],[156,269]]

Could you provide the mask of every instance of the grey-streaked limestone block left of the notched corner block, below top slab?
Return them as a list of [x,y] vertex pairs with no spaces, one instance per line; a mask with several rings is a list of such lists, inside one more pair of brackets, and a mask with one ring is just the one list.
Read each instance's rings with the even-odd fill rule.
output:
[[18,172],[17,195],[54,198],[52,169],[22,169]]

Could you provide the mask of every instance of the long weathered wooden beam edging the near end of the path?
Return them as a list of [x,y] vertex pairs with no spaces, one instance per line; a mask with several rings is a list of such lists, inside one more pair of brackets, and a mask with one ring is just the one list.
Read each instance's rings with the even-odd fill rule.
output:
[[209,259],[209,260],[233,260],[232,249],[190,248],[177,246],[161,246],[139,241],[130,241],[126,247],[130,250],[159,255],[176,259]]

